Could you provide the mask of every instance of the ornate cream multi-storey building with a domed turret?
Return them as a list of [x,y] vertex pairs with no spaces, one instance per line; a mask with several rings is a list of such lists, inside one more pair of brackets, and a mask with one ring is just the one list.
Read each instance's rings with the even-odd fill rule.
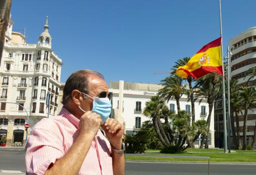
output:
[[2,142],[7,137],[8,146],[22,146],[24,124],[32,127],[47,117],[47,93],[50,114],[57,114],[62,60],[52,50],[48,17],[37,44],[27,44],[23,34],[12,31],[13,24],[10,20],[0,65],[0,137]]

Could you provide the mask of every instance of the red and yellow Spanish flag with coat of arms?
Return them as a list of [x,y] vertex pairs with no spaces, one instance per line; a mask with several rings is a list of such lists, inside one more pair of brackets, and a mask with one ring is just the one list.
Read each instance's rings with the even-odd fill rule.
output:
[[188,76],[200,78],[211,72],[223,75],[220,53],[221,38],[202,47],[185,66],[181,66],[176,70],[176,75],[185,79]]

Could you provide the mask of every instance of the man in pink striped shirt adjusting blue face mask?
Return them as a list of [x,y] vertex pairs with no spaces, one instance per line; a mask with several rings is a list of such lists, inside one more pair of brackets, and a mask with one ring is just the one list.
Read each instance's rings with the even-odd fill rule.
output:
[[107,95],[100,73],[73,73],[63,90],[60,114],[33,127],[26,144],[27,174],[124,174],[123,126],[108,118]]

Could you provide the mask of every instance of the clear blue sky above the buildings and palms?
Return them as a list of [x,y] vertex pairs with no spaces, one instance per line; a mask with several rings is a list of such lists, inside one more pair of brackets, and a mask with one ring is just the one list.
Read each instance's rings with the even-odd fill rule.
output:
[[[224,55],[228,40],[255,26],[255,0],[222,1]],[[49,16],[52,48],[64,63],[61,81],[79,69],[105,80],[159,83],[174,62],[219,37],[218,0],[13,0],[14,31],[37,43]],[[21,32],[21,31],[17,31]]]

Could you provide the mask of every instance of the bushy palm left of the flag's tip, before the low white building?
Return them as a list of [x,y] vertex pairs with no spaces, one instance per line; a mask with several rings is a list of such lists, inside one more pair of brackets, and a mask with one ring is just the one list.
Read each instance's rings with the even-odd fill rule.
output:
[[158,95],[163,97],[167,102],[170,99],[174,98],[177,103],[177,109],[180,110],[180,98],[186,93],[187,89],[182,85],[182,78],[176,75],[170,75],[166,77],[164,80],[161,80],[164,87],[158,91]]

